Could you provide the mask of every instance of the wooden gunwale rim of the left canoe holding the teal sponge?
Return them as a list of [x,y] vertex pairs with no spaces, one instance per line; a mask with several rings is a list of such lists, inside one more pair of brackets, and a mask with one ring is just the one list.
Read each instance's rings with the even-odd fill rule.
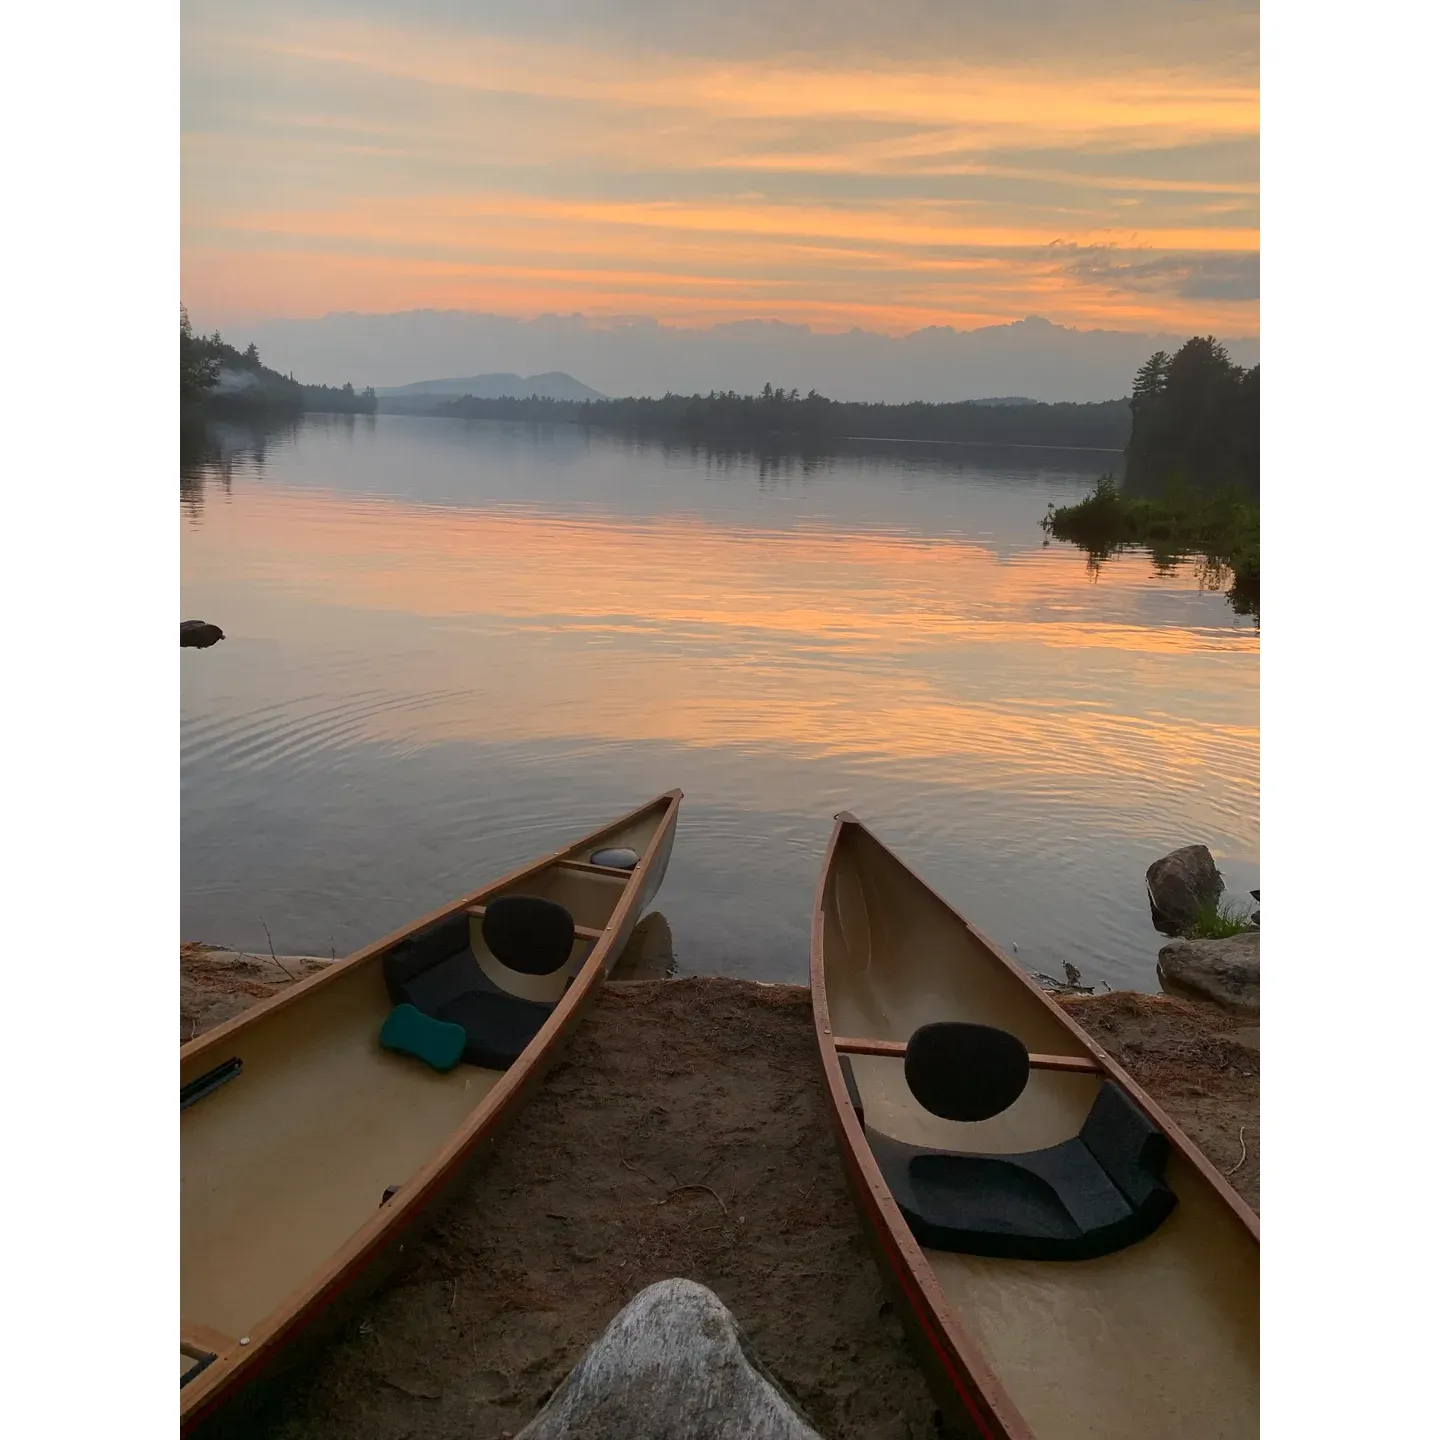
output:
[[181,1434],[187,1434],[197,1426],[213,1418],[242,1388],[249,1387],[252,1381],[262,1378],[265,1371],[274,1368],[274,1364],[279,1361],[289,1342],[328,1310],[351,1286],[357,1284],[384,1251],[402,1241],[403,1237],[422,1223],[439,1200],[441,1192],[458,1179],[459,1169],[474,1152],[488,1139],[495,1138],[514,1119],[528,1090],[539,1083],[550,1063],[556,1058],[586,1004],[593,999],[600,982],[605,979],[616,937],[628,926],[632,926],[634,920],[638,919],[636,912],[648,901],[645,891],[649,873],[657,855],[661,854],[672,838],[683,798],[683,792],[678,789],[667,791],[664,795],[647,801],[634,811],[616,819],[606,821],[606,824],[590,831],[588,835],[582,835],[579,840],[539,860],[494,878],[458,900],[448,901],[418,920],[406,923],[402,929],[392,930],[382,939],[356,950],[354,955],[347,956],[344,960],[327,965],[325,969],[315,975],[181,1045],[181,1064],[192,1060],[203,1060],[210,1050],[226,1050],[235,1044],[235,1037],[249,1025],[275,1014],[287,1005],[297,1004],[318,986],[330,984],[361,965],[370,963],[377,955],[383,955],[416,930],[423,930],[442,920],[462,914],[471,906],[481,903],[485,896],[557,864],[573,851],[592,844],[600,835],[632,824],[649,811],[662,809],[655,834],[647,844],[645,854],[641,855],[639,863],[629,873],[625,886],[616,896],[615,909],[605,929],[599,932],[599,937],[576,972],[570,988],[556,1002],[550,1017],[536,1032],[520,1058],[501,1074],[500,1080],[475,1110],[432,1153],[420,1169],[396,1191],[392,1200],[380,1207],[360,1230],[351,1234],[333,1253],[330,1261],[323,1269],[310,1276],[276,1305],[264,1320],[251,1328],[249,1335],[245,1336],[245,1346],[236,1344],[228,1352],[219,1355],[206,1367],[203,1374],[196,1375],[184,1387],[180,1407]]

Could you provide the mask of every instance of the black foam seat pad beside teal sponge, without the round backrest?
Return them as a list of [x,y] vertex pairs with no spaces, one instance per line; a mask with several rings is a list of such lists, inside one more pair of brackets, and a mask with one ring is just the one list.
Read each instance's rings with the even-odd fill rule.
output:
[[403,940],[384,958],[383,969],[396,1005],[461,1025],[465,1063],[487,1070],[508,1070],[554,1009],[503,991],[480,968],[465,917]]

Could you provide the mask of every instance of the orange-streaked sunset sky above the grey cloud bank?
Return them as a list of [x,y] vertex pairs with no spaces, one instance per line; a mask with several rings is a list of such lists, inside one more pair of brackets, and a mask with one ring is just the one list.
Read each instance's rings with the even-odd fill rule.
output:
[[1259,331],[1248,0],[183,9],[183,297]]

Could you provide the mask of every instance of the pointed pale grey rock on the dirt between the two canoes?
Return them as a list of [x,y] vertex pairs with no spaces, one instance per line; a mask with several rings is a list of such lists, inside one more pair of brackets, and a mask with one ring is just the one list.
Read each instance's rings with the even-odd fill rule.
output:
[[821,1440],[694,1280],[641,1290],[516,1440]]

